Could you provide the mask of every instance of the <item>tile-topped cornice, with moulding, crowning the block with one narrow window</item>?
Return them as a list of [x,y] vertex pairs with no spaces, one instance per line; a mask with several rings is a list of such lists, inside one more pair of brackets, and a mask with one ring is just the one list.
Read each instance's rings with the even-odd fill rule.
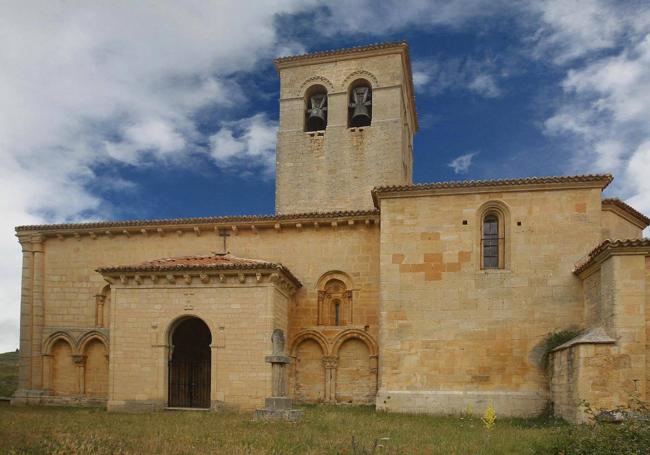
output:
[[449,194],[476,194],[513,191],[548,191],[575,188],[605,189],[613,180],[610,174],[572,176],[526,177],[499,180],[460,180],[450,182],[418,183],[375,187],[372,198],[375,207],[384,198],[437,196]]

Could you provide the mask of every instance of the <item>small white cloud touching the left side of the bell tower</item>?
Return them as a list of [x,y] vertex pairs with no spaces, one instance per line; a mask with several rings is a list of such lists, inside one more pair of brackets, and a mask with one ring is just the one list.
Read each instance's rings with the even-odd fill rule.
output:
[[266,114],[256,114],[225,124],[210,136],[210,152],[223,168],[259,168],[265,175],[275,169],[277,122]]

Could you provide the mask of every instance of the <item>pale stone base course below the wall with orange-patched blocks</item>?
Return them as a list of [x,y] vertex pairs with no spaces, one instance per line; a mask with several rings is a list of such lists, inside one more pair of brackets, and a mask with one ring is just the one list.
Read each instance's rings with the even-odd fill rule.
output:
[[490,403],[497,416],[534,417],[541,414],[548,395],[537,392],[471,391],[471,390],[380,390],[377,410],[414,414],[461,414],[471,407],[474,415],[482,415]]

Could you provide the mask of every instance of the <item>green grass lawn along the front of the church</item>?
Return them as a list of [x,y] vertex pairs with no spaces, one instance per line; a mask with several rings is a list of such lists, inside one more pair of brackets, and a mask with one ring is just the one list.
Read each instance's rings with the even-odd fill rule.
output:
[[[13,454],[534,454],[564,425],[375,413],[308,406],[299,423],[257,422],[251,413],[107,413],[99,409],[0,406],[0,453]],[[356,448],[352,443],[355,438]],[[375,440],[384,448],[375,452]]]

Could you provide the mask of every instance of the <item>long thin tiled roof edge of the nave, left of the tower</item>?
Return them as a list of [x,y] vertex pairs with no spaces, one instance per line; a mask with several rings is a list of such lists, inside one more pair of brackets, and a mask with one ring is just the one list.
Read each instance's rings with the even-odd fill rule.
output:
[[59,229],[95,229],[111,227],[136,227],[136,226],[158,226],[158,225],[179,225],[179,224],[206,224],[206,223],[256,223],[273,221],[292,221],[304,219],[330,219],[348,218],[356,216],[376,216],[378,210],[348,210],[335,212],[310,212],[289,215],[245,215],[245,216],[212,216],[197,218],[168,218],[157,220],[128,220],[128,221],[99,221],[94,223],[64,223],[64,224],[41,224],[18,226],[16,231],[48,231]]

